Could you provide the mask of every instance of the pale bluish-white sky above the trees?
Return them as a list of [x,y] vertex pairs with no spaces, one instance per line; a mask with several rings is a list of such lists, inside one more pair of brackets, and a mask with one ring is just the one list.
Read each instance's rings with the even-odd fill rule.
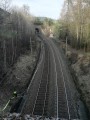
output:
[[13,0],[12,4],[16,6],[23,6],[23,4],[30,6],[30,12],[34,16],[49,17],[58,19],[63,7],[64,0]]

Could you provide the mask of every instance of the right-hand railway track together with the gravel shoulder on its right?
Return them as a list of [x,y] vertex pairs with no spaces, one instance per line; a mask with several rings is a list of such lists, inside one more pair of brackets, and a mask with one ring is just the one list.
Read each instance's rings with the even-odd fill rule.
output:
[[[70,95],[70,88],[68,87],[68,83],[65,80],[65,74],[63,71],[63,65],[61,62],[60,55],[58,54],[58,50],[55,48],[55,46],[52,44],[52,52],[54,58],[57,58],[55,61],[56,68],[56,91],[57,91],[57,118],[64,118],[64,119],[75,119],[78,118],[76,111],[74,110],[73,101]],[[59,66],[58,64],[59,63]]]

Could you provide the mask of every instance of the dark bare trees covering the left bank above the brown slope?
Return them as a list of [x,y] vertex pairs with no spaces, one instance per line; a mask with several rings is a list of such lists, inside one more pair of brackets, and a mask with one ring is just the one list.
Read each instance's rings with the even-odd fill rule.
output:
[[0,77],[21,54],[31,50],[31,40],[36,44],[32,16],[27,7],[14,8],[10,13],[6,8],[0,8]]

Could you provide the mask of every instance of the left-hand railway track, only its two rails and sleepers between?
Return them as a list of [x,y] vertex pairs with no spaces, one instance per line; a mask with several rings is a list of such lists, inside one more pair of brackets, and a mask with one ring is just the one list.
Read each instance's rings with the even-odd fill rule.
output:
[[[47,54],[46,54],[47,53]],[[49,52],[45,49],[45,63],[42,79],[39,84],[32,115],[47,116],[49,98]]]

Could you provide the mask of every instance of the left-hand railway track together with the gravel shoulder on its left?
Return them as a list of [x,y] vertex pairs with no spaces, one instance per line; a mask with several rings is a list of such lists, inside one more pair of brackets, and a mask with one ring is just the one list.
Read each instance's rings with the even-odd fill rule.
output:
[[[40,65],[27,89],[27,98],[21,106],[21,114],[47,116],[49,99],[49,52],[44,45]],[[40,70],[40,71],[39,71]],[[38,73],[39,72],[39,73]],[[38,76],[38,78],[37,78]],[[26,104],[28,102],[28,104]]]

